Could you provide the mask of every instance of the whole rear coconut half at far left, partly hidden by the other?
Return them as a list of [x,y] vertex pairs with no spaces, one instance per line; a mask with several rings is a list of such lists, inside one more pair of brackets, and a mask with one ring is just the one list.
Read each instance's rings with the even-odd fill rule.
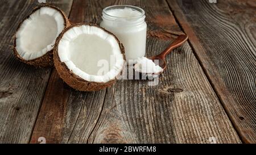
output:
[[20,23],[16,31],[15,56],[26,64],[52,66],[52,49],[56,38],[68,26],[70,24],[67,16],[57,7],[37,7]]

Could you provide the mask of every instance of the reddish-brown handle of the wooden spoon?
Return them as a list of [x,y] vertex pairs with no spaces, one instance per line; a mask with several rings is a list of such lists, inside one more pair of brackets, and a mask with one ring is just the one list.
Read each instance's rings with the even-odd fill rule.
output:
[[172,49],[175,49],[177,47],[180,47],[180,45],[182,45],[185,41],[188,40],[188,36],[187,35],[179,35],[174,42],[171,43],[171,45],[169,45],[169,47],[167,47],[164,52],[160,53],[160,55],[158,55],[159,57],[166,57],[166,55],[168,55]]

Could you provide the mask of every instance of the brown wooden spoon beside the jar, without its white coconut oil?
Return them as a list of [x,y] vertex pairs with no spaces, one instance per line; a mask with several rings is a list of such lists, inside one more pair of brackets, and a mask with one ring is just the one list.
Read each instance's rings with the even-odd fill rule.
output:
[[[169,45],[169,47],[166,48],[166,50],[164,50],[162,53],[160,53],[157,56],[153,56],[150,57],[149,59],[151,59],[153,62],[155,62],[154,60],[158,60],[158,64],[163,70],[165,70],[167,68],[166,65],[166,55],[168,55],[173,49],[180,47],[185,41],[188,40],[188,36],[187,35],[179,35],[174,42],[171,43],[171,45]],[[159,73],[156,73],[159,74]]]

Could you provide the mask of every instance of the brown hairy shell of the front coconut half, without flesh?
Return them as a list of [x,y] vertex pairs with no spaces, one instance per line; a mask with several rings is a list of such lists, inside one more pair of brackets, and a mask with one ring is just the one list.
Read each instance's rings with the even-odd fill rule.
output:
[[[90,82],[86,81],[85,79],[82,79],[81,77],[77,76],[74,74],[64,62],[60,61],[60,57],[58,54],[58,45],[59,41],[63,37],[64,33],[67,32],[69,29],[77,26],[82,26],[82,25],[89,25],[89,26],[96,26],[94,24],[86,24],[86,23],[78,23],[78,24],[73,24],[71,27],[66,28],[60,35],[57,37],[55,47],[53,49],[53,56],[54,56],[54,65],[57,70],[57,73],[59,74],[60,78],[63,79],[65,83],[67,83],[69,86],[71,86],[73,89],[79,90],[79,91],[98,91],[101,89],[104,89],[106,87],[112,86],[116,82],[116,78],[110,80],[109,82]],[[99,27],[101,28],[101,27]],[[101,28],[102,30],[105,30],[104,28]],[[110,33],[115,37],[115,39],[118,41],[119,48],[121,49],[121,52],[123,54],[123,60],[125,60],[125,48],[123,45],[120,43],[120,41],[117,39],[117,37],[105,30],[106,32]],[[121,74],[121,73],[120,73]]]

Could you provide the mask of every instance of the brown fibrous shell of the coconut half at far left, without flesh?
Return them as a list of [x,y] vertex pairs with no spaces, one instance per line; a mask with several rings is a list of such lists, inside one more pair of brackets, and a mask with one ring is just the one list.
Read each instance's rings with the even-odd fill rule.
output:
[[[41,7],[51,7],[52,9],[55,9],[57,11],[59,11],[61,13],[61,15],[64,18],[64,29],[69,27],[71,25],[71,23],[69,22],[67,16],[65,15],[65,13],[60,10],[59,8],[55,7],[55,6],[51,6],[51,5],[47,5],[47,4],[43,4],[40,5],[38,7],[36,7],[30,15],[32,15],[35,11],[41,9]],[[25,19],[22,20],[22,22],[19,23],[19,26],[16,30],[16,32],[19,31],[20,26],[22,25],[22,23],[24,22],[24,20],[28,19],[30,17],[30,15],[28,15]],[[18,58],[18,60],[28,64],[28,65],[33,65],[33,66],[37,66],[37,67],[48,67],[48,66],[53,66],[53,49],[51,51],[48,51],[45,55],[32,59],[32,60],[24,60],[24,58],[19,56],[19,53],[16,50],[16,32],[15,32],[15,40],[14,40],[14,55],[16,56],[16,58]]]

